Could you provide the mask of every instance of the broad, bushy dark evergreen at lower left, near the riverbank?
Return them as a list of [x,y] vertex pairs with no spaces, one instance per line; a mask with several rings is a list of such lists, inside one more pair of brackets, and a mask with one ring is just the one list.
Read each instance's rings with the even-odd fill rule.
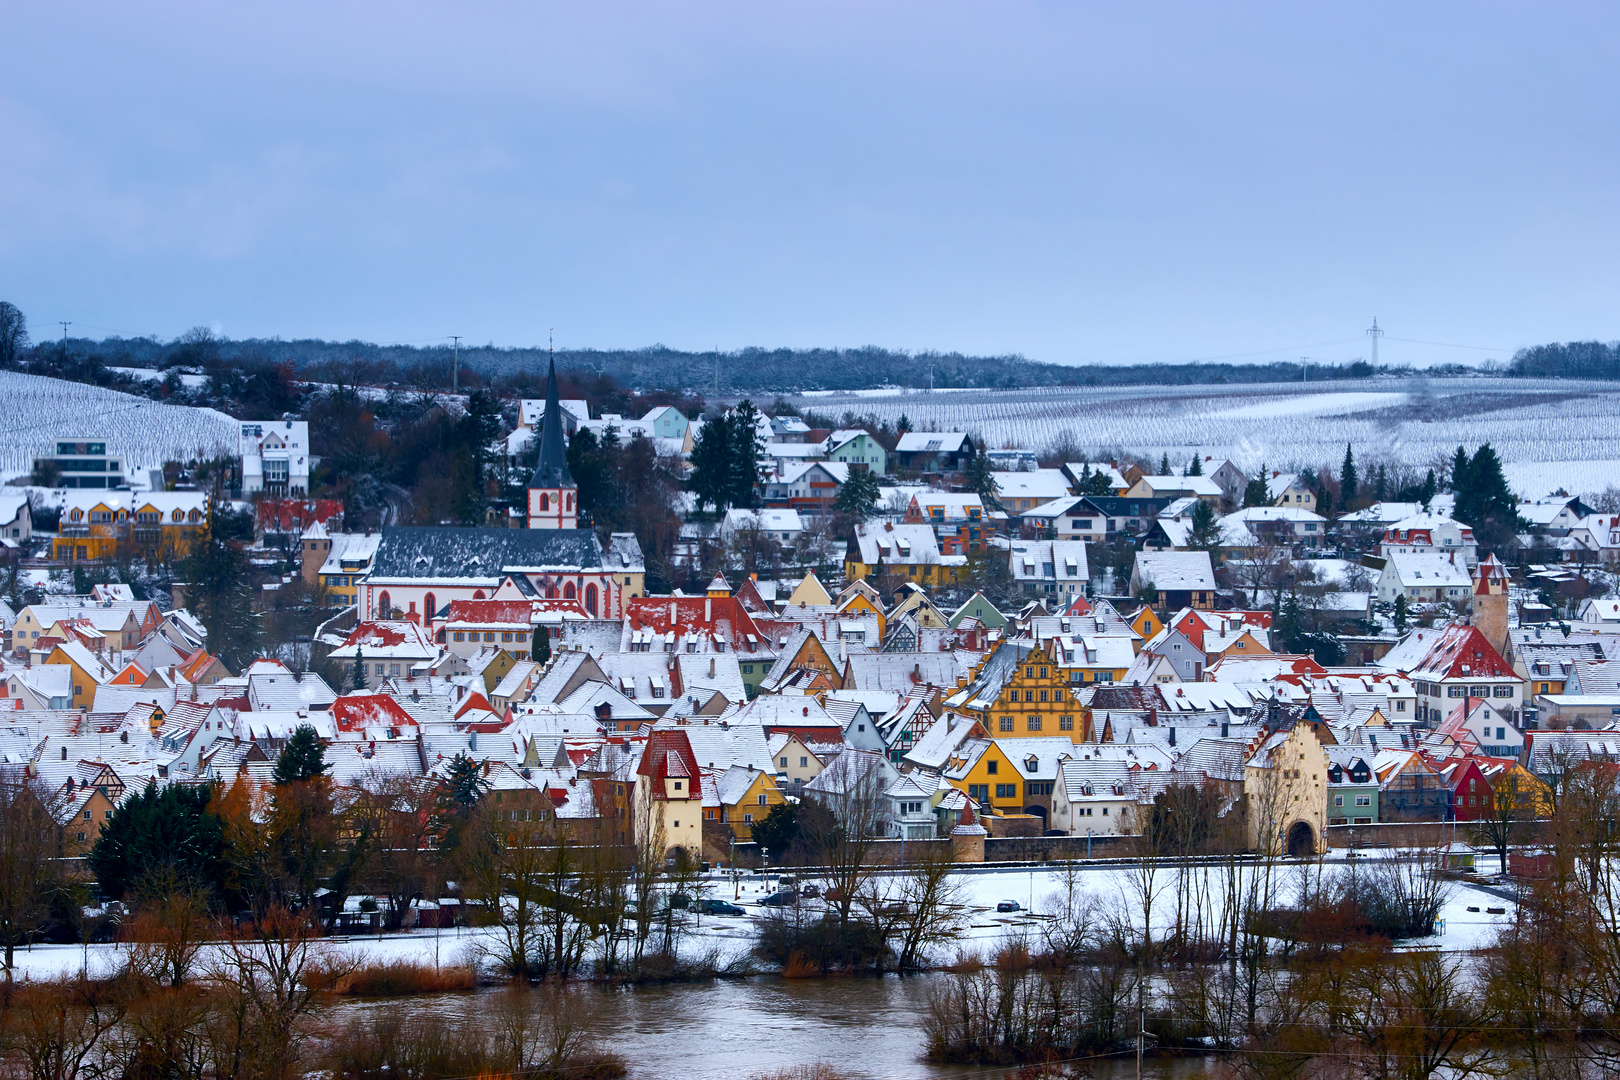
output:
[[212,813],[212,789],[170,784],[130,795],[102,827],[86,865],[102,892],[123,899],[159,870],[173,870],[199,886],[222,891],[225,831]]

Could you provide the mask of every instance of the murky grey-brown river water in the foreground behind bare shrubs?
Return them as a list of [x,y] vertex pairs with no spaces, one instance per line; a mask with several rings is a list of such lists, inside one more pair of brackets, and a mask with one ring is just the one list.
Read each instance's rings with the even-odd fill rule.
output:
[[[599,1038],[630,1065],[630,1080],[750,1080],[825,1062],[852,1080],[1001,1080],[1014,1069],[922,1061],[928,984],[909,978],[782,980],[758,976],[603,989]],[[339,1012],[408,1007],[476,1022],[488,993],[353,1002]],[[1149,1061],[1144,1077],[1202,1080],[1213,1062]],[[1095,1062],[1098,1080],[1136,1075],[1136,1059]]]

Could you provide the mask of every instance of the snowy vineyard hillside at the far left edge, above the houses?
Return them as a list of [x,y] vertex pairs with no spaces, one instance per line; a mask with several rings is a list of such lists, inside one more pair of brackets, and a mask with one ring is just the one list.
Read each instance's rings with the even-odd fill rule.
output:
[[237,421],[81,382],[0,372],[0,481],[24,476],[57,439],[105,439],[131,474],[164,461],[235,453]]

